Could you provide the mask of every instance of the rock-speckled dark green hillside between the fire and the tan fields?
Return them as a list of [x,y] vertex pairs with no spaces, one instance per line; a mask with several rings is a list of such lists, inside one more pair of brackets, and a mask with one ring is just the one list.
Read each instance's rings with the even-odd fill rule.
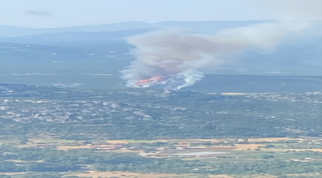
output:
[[321,92],[226,95],[17,84],[0,89],[5,139],[39,132],[76,140],[321,135]]

